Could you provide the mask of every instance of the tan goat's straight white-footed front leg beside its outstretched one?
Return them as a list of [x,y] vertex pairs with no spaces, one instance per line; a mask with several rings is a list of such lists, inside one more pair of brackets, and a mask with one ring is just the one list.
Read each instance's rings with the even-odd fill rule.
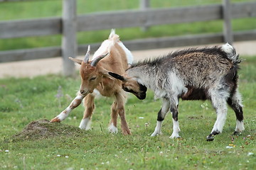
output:
[[94,99],[95,99],[95,96],[92,94],[88,94],[85,97],[85,100],[84,100],[85,112],[81,120],[81,123],[79,125],[80,129],[90,130],[92,113],[95,110]]

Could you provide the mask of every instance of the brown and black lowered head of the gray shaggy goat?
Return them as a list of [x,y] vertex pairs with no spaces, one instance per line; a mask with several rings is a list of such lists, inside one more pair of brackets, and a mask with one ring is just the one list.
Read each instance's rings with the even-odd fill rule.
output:
[[146,86],[140,84],[136,78],[129,77],[127,74],[124,74],[123,76],[112,72],[109,72],[109,74],[123,82],[122,89],[124,89],[124,91],[134,94],[140,100],[146,98]]

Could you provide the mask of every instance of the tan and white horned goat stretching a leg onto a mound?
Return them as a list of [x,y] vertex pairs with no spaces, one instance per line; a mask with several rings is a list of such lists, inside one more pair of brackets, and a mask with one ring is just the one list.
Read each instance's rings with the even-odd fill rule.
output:
[[132,53],[119,40],[119,35],[111,31],[108,40],[95,52],[92,61],[89,61],[90,46],[84,60],[70,57],[70,60],[80,64],[81,85],[78,95],[70,103],[70,106],[62,111],[51,122],[60,122],[68,117],[74,108],[80,105],[84,99],[85,112],[79,128],[89,130],[92,113],[95,110],[95,94],[97,91],[102,96],[114,97],[111,108],[110,132],[117,132],[117,117],[120,116],[121,128],[124,135],[131,134],[124,114],[125,92],[122,90],[122,82],[110,77],[108,72],[124,74],[129,64],[132,64]]

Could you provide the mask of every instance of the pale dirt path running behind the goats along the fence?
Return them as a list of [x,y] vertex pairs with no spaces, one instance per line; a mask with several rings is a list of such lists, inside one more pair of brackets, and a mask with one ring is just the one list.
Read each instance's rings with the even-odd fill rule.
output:
[[[169,52],[175,50],[186,49],[189,47],[211,47],[220,44],[213,45],[200,45],[200,46],[186,46],[186,47],[170,47],[162,49],[152,49],[152,50],[139,50],[132,51],[134,55],[134,61],[145,60],[146,58],[164,56],[169,54]],[[256,40],[245,41],[245,42],[234,42],[234,47],[240,56],[242,55],[256,55]],[[83,59],[83,56],[78,56],[78,59]],[[60,74],[63,69],[63,59],[61,57],[40,59],[40,60],[27,60],[21,62],[6,62],[0,63],[0,78],[5,77],[36,77],[39,75],[46,74]],[[80,67],[76,65],[76,69]]]

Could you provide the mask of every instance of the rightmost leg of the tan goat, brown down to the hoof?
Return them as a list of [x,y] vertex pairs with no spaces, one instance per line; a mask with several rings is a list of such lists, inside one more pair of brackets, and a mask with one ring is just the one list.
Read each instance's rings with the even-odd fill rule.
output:
[[[132,133],[129,130],[129,127],[127,125],[127,121],[125,119],[125,112],[124,112],[124,103],[125,103],[125,97],[124,94],[116,94],[116,103],[117,103],[117,113],[120,116],[121,119],[121,129],[122,129],[122,133],[124,135],[131,135]],[[115,115],[114,115],[115,116]],[[112,120],[116,120],[116,117],[113,117],[112,115]]]

